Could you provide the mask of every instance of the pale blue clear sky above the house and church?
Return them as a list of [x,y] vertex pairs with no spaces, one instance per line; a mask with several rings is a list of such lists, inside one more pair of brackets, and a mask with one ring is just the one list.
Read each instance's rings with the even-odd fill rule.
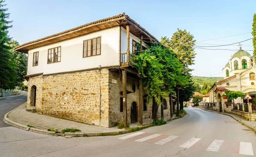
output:
[[[9,35],[20,44],[125,12],[159,40],[172,37],[179,28],[189,31],[198,46],[226,45],[253,37],[256,13],[256,0],[6,0],[6,4],[13,20]],[[252,39],[241,44],[252,55]],[[223,76],[222,68],[239,46],[208,49],[228,50],[195,48],[192,75]]]

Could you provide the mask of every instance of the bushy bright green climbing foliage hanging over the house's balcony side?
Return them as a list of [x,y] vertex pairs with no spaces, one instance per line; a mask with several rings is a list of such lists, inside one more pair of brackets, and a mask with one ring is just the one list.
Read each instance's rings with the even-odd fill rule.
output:
[[[162,98],[174,92],[174,87],[187,84],[183,64],[169,48],[162,48],[160,44],[154,43],[151,48],[137,55],[136,59],[138,73],[144,77],[143,86],[148,91],[148,102],[154,98],[156,110],[159,105],[163,105]],[[155,115],[154,121],[156,120]]]

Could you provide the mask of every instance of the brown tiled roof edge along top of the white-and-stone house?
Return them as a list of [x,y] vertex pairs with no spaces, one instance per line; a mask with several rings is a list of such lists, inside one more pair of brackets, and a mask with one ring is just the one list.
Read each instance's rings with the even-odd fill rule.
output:
[[52,35],[50,35],[50,36],[46,36],[46,37],[44,37],[44,38],[37,39],[37,40],[31,41],[31,42],[26,42],[26,43],[24,43],[24,44],[22,44],[22,45],[18,45],[17,47],[15,47],[15,50],[18,49],[18,48],[24,47],[24,46],[26,46],[26,45],[30,45],[30,44],[33,44],[33,43],[36,43],[36,42],[41,42],[41,41],[47,40],[47,39],[52,38],[52,37],[57,37],[57,36],[61,36],[61,35],[63,35],[63,34],[71,33],[72,31],[76,31],[76,30],[78,30],[78,29],[87,27],[87,26],[89,26],[89,25],[99,24],[99,23],[101,23],[101,22],[105,22],[105,21],[108,21],[108,20],[114,20],[114,19],[121,18],[121,17],[124,17],[124,19],[127,19],[127,20],[131,21],[134,25],[136,25],[136,26],[137,26],[138,28],[140,28],[142,31],[144,31],[144,32],[147,33],[149,36],[151,36],[154,40],[158,41],[153,35],[151,35],[150,33],[148,33],[148,31],[146,31],[145,28],[141,27],[137,22],[135,22],[135,21],[132,20],[128,15],[125,15],[125,13],[123,13],[123,14],[119,14],[119,15],[116,15],[116,16],[113,16],[113,17],[108,17],[108,18],[105,18],[105,19],[102,19],[102,20],[97,20],[97,21],[90,22],[90,23],[87,23],[87,24],[84,24],[84,25],[80,25],[80,26],[78,26],[78,27],[69,29],[69,30],[67,30],[67,31],[62,31],[62,32],[57,33],[57,34],[52,34]]

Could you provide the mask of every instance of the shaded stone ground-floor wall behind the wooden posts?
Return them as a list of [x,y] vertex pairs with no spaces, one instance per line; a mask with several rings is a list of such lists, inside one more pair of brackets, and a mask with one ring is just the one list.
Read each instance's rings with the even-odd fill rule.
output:
[[[131,104],[136,102],[137,104],[137,121],[139,118],[139,80],[136,76],[127,75],[127,90],[132,91],[132,93],[127,94],[127,114],[128,123],[131,123]],[[116,83],[115,83],[116,82]],[[136,87],[135,92],[132,90],[133,84]],[[123,112],[120,112],[120,97],[122,97],[122,71],[109,73],[109,124],[110,126],[115,126],[123,121]],[[143,90],[143,95],[147,92]],[[143,97],[146,99],[147,97]],[[164,118],[170,118],[170,105],[169,97],[166,98],[168,109],[164,109]],[[161,118],[161,107],[158,107],[157,118]],[[143,123],[151,123],[152,119],[152,101],[147,104],[147,110],[143,111]]]

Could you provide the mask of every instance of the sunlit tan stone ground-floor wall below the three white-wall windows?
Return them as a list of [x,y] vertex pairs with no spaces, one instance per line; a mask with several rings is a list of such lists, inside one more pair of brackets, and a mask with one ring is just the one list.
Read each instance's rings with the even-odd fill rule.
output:
[[[98,73],[91,70],[41,76],[42,86],[37,86],[37,90],[41,90],[41,103],[38,101],[37,92],[37,111],[99,125],[100,82],[101,126],[108,127],[108,69],[101,70],[101,78]],[[30,78],[29,86],[36,81],[37,78]]]

